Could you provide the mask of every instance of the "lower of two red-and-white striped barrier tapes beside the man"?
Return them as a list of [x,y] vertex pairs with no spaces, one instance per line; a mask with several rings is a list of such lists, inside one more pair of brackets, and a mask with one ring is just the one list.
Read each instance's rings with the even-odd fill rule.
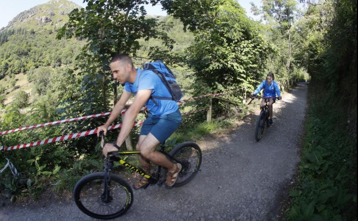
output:
[[[193,114],[195,112],[204,111],[204,110],[208,110],[208,108],[207,109],[200,109],[200,110],[194,110],[194,111],[185,112],[182,115]],[[137,122],[137,123],[133,124],[133,126],[142,125],[143,122],[144,121]],[[116,124],[116,125],[109,126],[107,130],[114,130],[114,129],[121,128],[121,127],[122,127],[122,124]],[[87,131],[74,133],[74,134],[58,136],[56,138],[49,138],[49,139],[46,139],[46,140],[39,140],[39,141],[28,143],[28,144],[19,144],[19,145],[9,146],[9,147],[0,146],[0,150],[9,151],[9,150],[14,150],[14,149],[22,149],[22,148],[31,147],[31,146],[38,146],[38,145],[42,145],[42,144],[55,143],[55,142],[63,141],[63,140],[70,140],[70,139],[73,139],[73,138],[79,138],[81,136],[88,136],[88,135],[96,134],[96,133],[97,133],[97,128],[92,129],[92,130],[87,130]]]

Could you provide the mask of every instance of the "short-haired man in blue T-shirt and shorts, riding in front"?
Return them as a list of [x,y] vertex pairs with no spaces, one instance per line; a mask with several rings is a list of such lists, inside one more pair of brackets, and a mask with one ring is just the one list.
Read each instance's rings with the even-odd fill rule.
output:
[[[102,150],[103,154],[107,156],[108,152],[118,151],[118,148],[129,135],[140,109],[145,105],[149,114],[142,125],[136,145],[136,149],[140,151],[139,162],[146,173],[150,172],[150,162],[167,168],[168,174],[165,184],[168,187],[173,186],[182,165],[170,162],[164,154],[156,151],[155,148],[160,143],[164,143],[182,122],[178,105],[174,100],[153,99],[153,97],[171,97],[171,95],[153,71],[134,68],[129,56],[119,54],[113,57],[110,68],[113,78],[121,84],[125,83],[125,86],[106,124],[98,127],[97,136],[99,136],[100,131],[104,131],[106,135],[108,126],[120,115],[131,93],[135,94],[135,99],[126,111],[117,141],[113,144],[106,144]],[[148,179],[143,177],[134,184],[134,188],[141,188],[147,183]]]

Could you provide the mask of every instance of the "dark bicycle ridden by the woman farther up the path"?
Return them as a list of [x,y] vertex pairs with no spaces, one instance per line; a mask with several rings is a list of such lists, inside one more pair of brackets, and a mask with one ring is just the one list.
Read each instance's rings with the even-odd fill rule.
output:
[[270,126],[269,121],[269,105],[267,105],[267,102],[269,102],[270,99],[274,99],[274,102],[277,100],[280,100],[279,97],[261,97],[256,95],[256,98],[262,98],[265,99],[265,105],[261,107],[260,115],[258,116],[258,120],[256,123],[256,129],[255,129],[255,139],[256,141],[259,141],[262,138],[263,130],[265,129],[265,123],[266,126]]

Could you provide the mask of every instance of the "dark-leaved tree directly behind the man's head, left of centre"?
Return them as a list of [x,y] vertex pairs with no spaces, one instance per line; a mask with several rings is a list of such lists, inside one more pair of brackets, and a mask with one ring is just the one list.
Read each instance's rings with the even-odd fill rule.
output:
[[79,75],[83,76],[82,104],[79,106],[85,111],[105,111],[111,81],[110,58],[118,53],[135,56],[140,38],[160,38],[169,48],[173,40],[160,31],[158,19],[145,17],[146,11],[141,5],[156,4],[158,0],[86,1],[86,9],[74,9],[69,14],[69,21],[59,30],[57,38],[88,39],[77,57]]

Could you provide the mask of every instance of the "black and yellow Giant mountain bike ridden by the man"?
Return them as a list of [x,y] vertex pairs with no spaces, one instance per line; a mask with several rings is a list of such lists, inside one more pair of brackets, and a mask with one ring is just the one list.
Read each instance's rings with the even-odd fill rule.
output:
[[[101,134],[101,146],[108,143]],[[173,187],[181,187],[187,184],[197,174],[202,161],[202,153],[194,142],[184,142],[176,145],[169,153],[164,151],[165,145],[161,145],[163,153],[173,163],[182,164],[178,179]],[[103,172],[96,172],[82,177],[74,187],[73,198],[78,208],[88,216],[98,219],[113,219],[123,215],[133,203],[133,191],[128,182],[116,174],[111,173],[114,161],[134,170],[146,177],[149,185],[162,186],[165,182],[166,169],[158,166],[154,174],[146,174],[142,170],[125,162],[120,155],[136,155],[139,151],[110,152],[105,158]],[[164,170],[162,172],[162,170]],[[161,176],[162,174],[162,176]],[[164,176],[163,176],[164,175]]]

